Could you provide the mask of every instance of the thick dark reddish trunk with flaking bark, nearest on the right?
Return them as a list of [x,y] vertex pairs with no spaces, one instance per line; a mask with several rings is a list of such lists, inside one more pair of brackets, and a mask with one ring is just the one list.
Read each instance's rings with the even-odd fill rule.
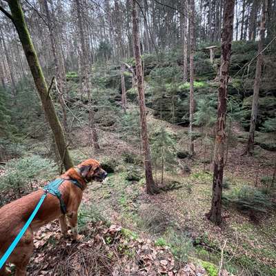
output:
[[233,39],[235,0],[225,1],[224,28],[221,35],[221,74],[218,90],[217,126],[214,152],[212,205],[207,217],[216,225],[221,223],[221,195],[224,176],[224,145],[226,141],[227,85],[229,79],[230,51]]

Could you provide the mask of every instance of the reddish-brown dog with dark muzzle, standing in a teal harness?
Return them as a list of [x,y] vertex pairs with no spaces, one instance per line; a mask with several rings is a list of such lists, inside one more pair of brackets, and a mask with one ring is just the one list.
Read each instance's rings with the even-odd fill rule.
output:
[[[61,212],[59,199],[55,195],[47,194],[30,227],[26,230],[26,233],[21,238],[19,244],[17,244],[17,247],[14,248],[14,251],[7,261],[16,266],[16,276],[26,275],[27,264],[34,247],[33,233],[41,226],[48,224],[48,222],[59,218],[61,233],[67,236],[67,217],[73,239],[81,239],[77,231],[77,211],[81,203],[83,190],[86,188],[88,182],[92,180],[103,181],[106,175],[106,171],[94,159],[83,161],[77,167],[70,168],[61,175],[61,178],[66,179],[59,187],[62,199],[66,204],[66,215]],[[80,187],[72,184],[70,179],[77,180]],[[6,252],[14,238],[17,237],[21,228],[23,228],[23,225],[32,214],[43,193],[43,190],[37,190],[30,195],[21,197],[21,199],[12,201],[0,209],[0,258]],[[0,276],[6,275],[10,275],[10,272],[6,268],[6,265],[4,265],[0,270]]]

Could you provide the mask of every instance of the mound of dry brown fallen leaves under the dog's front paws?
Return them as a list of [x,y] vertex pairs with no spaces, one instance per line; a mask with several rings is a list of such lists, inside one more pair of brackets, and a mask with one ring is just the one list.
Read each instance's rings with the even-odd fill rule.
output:
[[[201,266],[189,263],[180,267],[168,246],[155,246],[150,239],[132,238],[119,225],[88,224],[81,243],[64,239],[57,221],[34,235],[32,276],[90,275],[168,275],[207,276]],[[226,276],[226,275],[224,275]]]

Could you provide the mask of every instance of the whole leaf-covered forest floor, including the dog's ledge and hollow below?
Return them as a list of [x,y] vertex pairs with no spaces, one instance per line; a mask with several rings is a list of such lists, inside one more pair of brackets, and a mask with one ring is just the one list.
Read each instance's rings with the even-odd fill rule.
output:
[[[165,126],[176,137],[177,148],[188,149],[187,128],[150,114],[148,120],[155,128]],[[239,126],[233,129],[239,139],[229,145],[224,195],[244,185],[259,186],[262,177],[273,175],[276,158],[276,152],[259,146],[253,157],[242,156],[245,132]],[[224,206],[221,226],[206,219],[213,181],[211,146],[204,150],[201,139],[197,139],[195,157],[178,159],[174,169],[166,172],[168,190],[150,196],[144,189],[144,178],[133,178],[133,172],[136,176],[143,172],[133,138],[126,142],[103,130],[99,137],[101,150],[97,155],[91,152],[88,130],[75,130],[72,137],[77,141],[71,149],[76,164],[92,155],[103,162],[108,160],[115,169],[103,183],[92,183],[86,190],[79,210],[83,242],[62,239],[57,221],[41,228],[34,239],[35,253],[28,268],[31,275],[215,276],[222,248],[223,267],[233,275],[275,273],[275,213],[250,217]],[[32,151],[39,146],[36,143]],[[136,163],[128,163],[124,152],[137,157]],[[154,172],[154,177],[158,183],[160,173]]]

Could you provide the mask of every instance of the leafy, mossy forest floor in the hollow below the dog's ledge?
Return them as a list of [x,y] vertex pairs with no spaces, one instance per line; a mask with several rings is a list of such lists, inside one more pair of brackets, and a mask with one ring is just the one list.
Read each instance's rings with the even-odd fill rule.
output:
[[[178,137],[178,147],[187,148],[187,128],[171,125],[152,116],[149,124],[156,127],[166,126]],[[225,169],[228,185],[224,189],[224,195],[244,185],[259,186],[261,177],[273,175],[273,162],[276,158],[276,152],[264,150],[259,146],[256,146],[253,157],[242,156],[244,132],[238,126],[234,127],[234,131],[239,141],[229,148]],[[89,136],[84,133],[75,133],[75,139],[83,145],[83,148],[72,150],[75,156],[79,155],[77,152],[81,152],[79,159],[90,156],[90,148],[87,146]],[[101,132],[100,137],[103,146],[97,154],[97,159],[105,160],[109,157],[115,164],[115,172],[109,175],[104,184],[93,184],[89,187],[90,201],[92,206],[95,206],[92,213],[97,210],[96,213],[103,220],[124,226],[139,235],[146,235],[155,240],[156,244],[170,246],[172,251],[175,250],[180,262],[181,259],[186,262],[188,259],[201,259],[218,266],[221,262],[221,248],[224,247],[224,267],[230,273],[275,273],[275,213],[250,217],[226,206],[221,226],[214,226],[206,219],[205,214],[210,208],[213,173],[210,164],[203,164],[204,160],[208,163],[208,158],[204,157],[200,139],[195,141],[196,154],[193,159],[179,159],[175,170],[166,172],[166,184],[177,181],[180,185],[175,189],[149,196],[144,190],[144,179],[127,180],[132,170],[137,171],[139,166],[127,164],[122,152],[127,150],[135,155],[139,154],[139,150],[133,148],[133,143],[126,143],[110,132]],[[212,152],[212,149],[207,148],[207,152]],[[188,166],[190,172],[183,172],[183,166]],[[158,173],[155,177],[158,182]],[[88,208],[87,204],[84,203],[81,208],[81,212],[85,213],[83,210]]]

